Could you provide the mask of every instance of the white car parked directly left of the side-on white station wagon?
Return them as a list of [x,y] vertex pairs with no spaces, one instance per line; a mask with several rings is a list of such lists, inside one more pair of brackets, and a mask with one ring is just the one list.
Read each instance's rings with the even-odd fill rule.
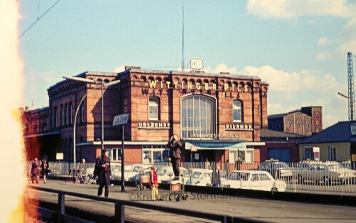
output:
[[213,170],[192,168],[189,170],[190,178],[187,180],[187,185],[195,186],[211,186],[213,178]]

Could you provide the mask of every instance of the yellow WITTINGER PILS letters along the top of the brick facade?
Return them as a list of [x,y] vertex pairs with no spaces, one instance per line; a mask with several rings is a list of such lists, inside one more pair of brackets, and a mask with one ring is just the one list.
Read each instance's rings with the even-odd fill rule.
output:
[[[209,84],[209,83],[192,83],[192,82],[170,82],[170,81],[165,81],[165,82],[157,82],[157,80],[150,81],[150,88],[174,88],[174,89],[204,89],[204,90],[213,90],[216,91],[218,89],[218,86],[213,83],[213,84]],[[222,89],[224,90],[224,92],[226,91],[231,91],[231,92],[248,92],[248,85],[232,85],[229,86],[228,84],[224,84],[224,86],[222,87]]]

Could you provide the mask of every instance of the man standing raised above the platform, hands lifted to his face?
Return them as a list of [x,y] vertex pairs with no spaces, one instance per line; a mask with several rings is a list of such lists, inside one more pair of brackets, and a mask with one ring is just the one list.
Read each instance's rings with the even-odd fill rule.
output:
[[167,147],[169,148],[169,158],[171,159],[174,180],[179,180],[179,166],[180,166],[180,148],[182,143],[177,140],[177,134],[174,134],[169,138]]

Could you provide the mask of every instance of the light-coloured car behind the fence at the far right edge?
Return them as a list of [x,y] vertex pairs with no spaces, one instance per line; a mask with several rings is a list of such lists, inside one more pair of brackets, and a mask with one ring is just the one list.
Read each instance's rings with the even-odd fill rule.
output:
[[343,168],[340,163],[333,161],[315,162],[302,161],[294,168],[294,174],[298,183],[343,183],[346,180],[355,180],[356,171],[350,168]]

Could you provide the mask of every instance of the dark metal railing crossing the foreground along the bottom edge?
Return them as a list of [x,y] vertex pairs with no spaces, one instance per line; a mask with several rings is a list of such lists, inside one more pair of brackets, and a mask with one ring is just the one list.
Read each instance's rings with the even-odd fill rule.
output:
[[[178,208],[173,208],[173,207],[164,207],[164,206],[157,206],[157,205],[150,205],[142,202],[134,202],[134,201],[127,201],[127,200],[116,200],[108,197],[97,197],[93,195],[85,195],[85,194],[80,194],[77,192],[68,192],[68,191],[63,191],[63,190],[54,190],[50,188],[43,188],[43,187],[33,187],[33,186],[28,186],[28,189],[33,189],[33,190],[41,190],[44,192],[51,192],[58,194],[58,203],[57,203],[57,214],[56,214],[56,219],[50,219],[54,222],[63,222],[64,219],[75,219],[74,216],[69,216],[66,214],[66,195],[71,196],[71,197],[80,197],[83,199],[88,199],[88,200],[95,200],[95,201],[100,201],[100,202],[108,202],[112,203],[115,205],[115,213],[114,213],[114,218],[115,222],[125,222],[125,207],[139,207],[145,210],[155,210],[159,212],[166,212],[166,213],[171,213],[171,214],[181,214],[184,216],[188,217],[199,217],[201,219],[209,219],[209,220],[214,220],[214,221],[219,221],[219,222],[258,222],[256,220],[244,218],[244,217],[232,217],[228,215],[222,215],[222,214],[211,214],[211,213],[206,213],[206,212],[197,212],[197,211],[192,211],[192,210],[182,210]],[[28,195],[27,195],[28,197]],[[27,198],[28,199],[28,198]],[[42,207],[43,209],[43,207]],[[48,212],[53,212],[53,210],[47,210]],[[47,214],[51,215],[51,214]],[[76,222],[78,222],[78,218],[76,218]],[[83,222],[86,222],[85,219],[83,219]]]

